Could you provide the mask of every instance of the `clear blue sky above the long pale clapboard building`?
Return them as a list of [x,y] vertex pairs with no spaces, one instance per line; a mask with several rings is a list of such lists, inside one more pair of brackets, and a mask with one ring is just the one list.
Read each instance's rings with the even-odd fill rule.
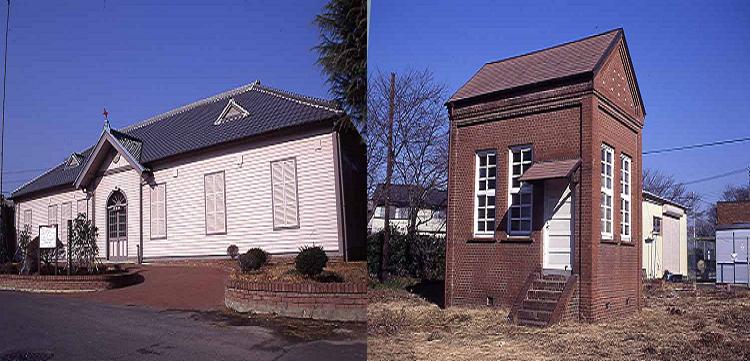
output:
[[324,3],[13,0],[4,191],[96,142],[103,107],[123,127],[256,79],[330,98],[311,50]]

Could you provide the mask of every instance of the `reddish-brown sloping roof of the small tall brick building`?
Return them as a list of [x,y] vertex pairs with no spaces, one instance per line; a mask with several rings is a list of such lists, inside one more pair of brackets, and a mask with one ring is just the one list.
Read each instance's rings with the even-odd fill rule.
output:
[[448,100],[452,103],[547,81],[593,74],[623,37],[622,29],[485,64]]

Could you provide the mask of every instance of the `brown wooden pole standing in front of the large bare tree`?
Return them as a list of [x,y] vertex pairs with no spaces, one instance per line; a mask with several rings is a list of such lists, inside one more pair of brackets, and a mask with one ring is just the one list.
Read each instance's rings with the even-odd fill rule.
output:
[[385,183],[383,192],[385,192],[385,213],[383,214],[383,247],[380,254],[380,269],[378,270],[378,279],[384,281],[388,274],[388,243],[391,240],[391,178],[393,177],[393,117],[396,102],[396,73],[391,73],[391,91],[388,99],[388,145],[386,151],[388,155],[385,163]]

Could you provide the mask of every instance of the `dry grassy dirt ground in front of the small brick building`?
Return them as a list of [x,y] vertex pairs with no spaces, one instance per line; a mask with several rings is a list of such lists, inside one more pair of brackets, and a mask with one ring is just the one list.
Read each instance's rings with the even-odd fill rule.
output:
[[750,292],[647,287],[631,317],[546,329],[515,326],[507,310],[450,308],[403,289],[376,289],[368,360],[750,360]]

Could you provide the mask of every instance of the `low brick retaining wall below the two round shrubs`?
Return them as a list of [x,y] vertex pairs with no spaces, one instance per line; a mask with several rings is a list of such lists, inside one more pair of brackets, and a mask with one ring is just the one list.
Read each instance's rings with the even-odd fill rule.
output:
[[367,285],[228,280],[224,303],[237,312],[332,321],[367,321]]

